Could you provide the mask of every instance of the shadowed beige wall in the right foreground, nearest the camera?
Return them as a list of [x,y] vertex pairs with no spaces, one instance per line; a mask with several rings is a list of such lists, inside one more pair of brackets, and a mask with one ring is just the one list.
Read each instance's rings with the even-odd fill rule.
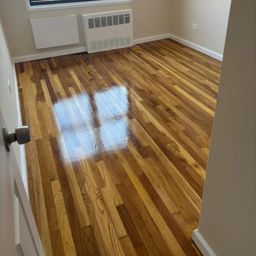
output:
[[232,0],[198,228],[217,256],[256,253],[255,71],[255,0]]

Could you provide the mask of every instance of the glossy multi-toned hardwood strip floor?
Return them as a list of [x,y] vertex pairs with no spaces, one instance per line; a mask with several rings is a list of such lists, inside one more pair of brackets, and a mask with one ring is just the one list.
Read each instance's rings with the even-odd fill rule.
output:
[[16,64],[47,256],[201,255],[220,70],[169,39]]

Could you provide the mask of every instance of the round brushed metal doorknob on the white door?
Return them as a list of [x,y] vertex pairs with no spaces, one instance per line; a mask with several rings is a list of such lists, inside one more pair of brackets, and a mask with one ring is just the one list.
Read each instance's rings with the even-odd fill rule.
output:
[[28,126],[20,126],[15,132],[9,133],[7,128],[3,127],[4,143],[7,151],[10,151],[10,145],[17,141],[20,145],[30,141],[30,132]]

